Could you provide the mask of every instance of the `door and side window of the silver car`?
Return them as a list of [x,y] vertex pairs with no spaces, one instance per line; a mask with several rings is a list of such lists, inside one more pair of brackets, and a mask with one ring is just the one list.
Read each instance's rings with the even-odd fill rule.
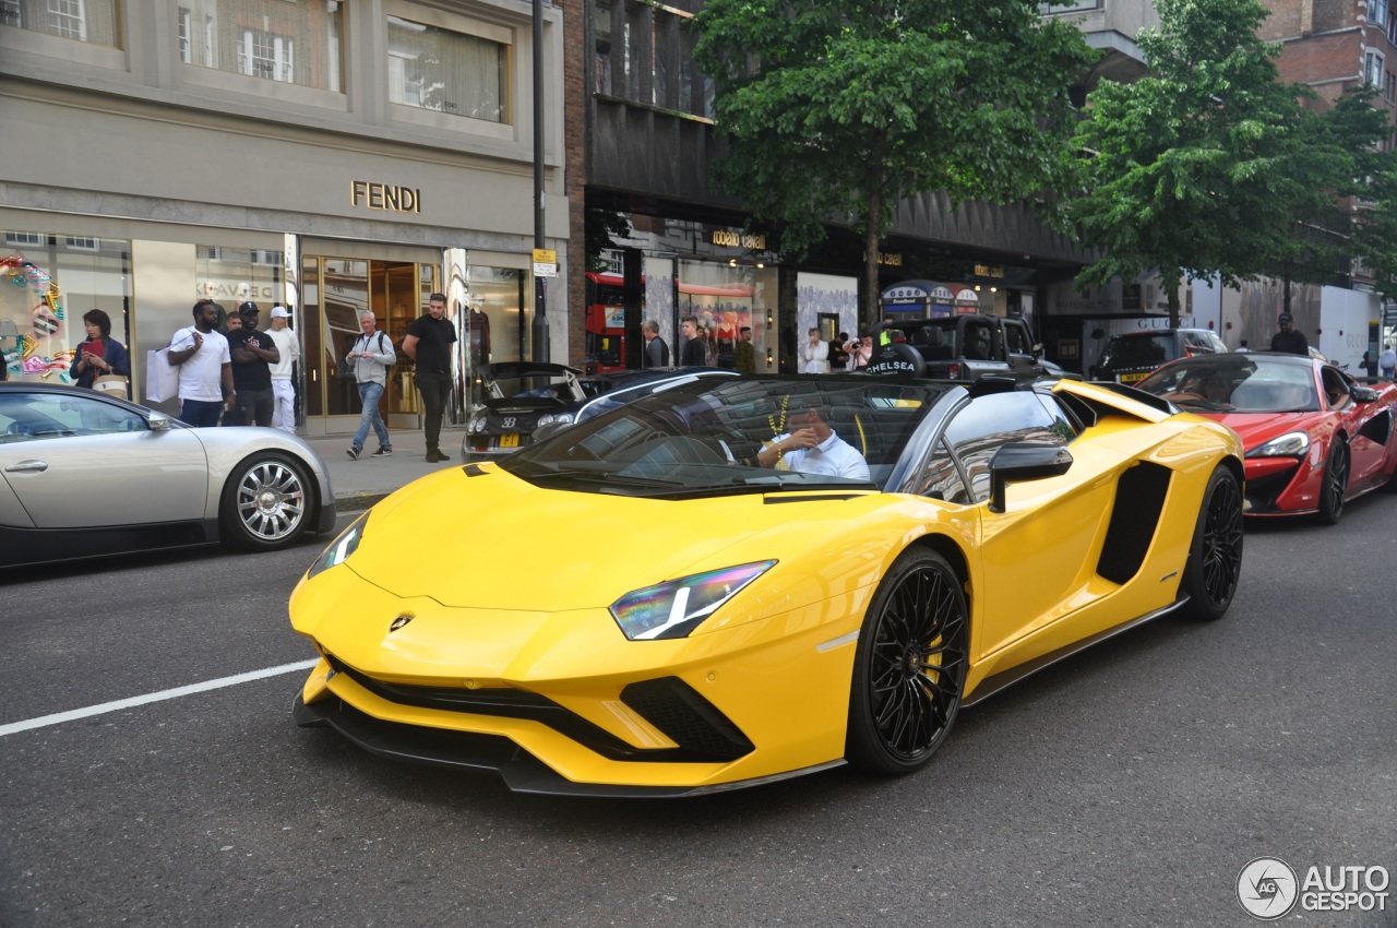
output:
[[203,519],[208,500],[193,429],[151,430],[96,394],[0,394],[0,474],[35,528]]

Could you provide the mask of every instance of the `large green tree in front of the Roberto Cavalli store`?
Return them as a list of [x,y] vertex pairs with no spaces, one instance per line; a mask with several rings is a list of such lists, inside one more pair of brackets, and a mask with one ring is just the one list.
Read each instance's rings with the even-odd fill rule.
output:
[[1074,171],[1067,88],[1092,60],[1032,0],[708,0],[694,59],[729,141],[714,184],[781,231],[863,235],[862,314],[877,321],[879,240],[898,203],[944,190],[1020,201]]

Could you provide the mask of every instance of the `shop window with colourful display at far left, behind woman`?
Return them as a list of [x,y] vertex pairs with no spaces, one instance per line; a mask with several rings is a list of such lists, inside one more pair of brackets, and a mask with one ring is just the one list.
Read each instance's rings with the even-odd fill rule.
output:
[[131,345],[130,242],[34,229],[6,231],[4,240],[0,282],[10,285],[0,287],[0,355],[11,380],[68,383],[91,309],[112,320],[112,338]]

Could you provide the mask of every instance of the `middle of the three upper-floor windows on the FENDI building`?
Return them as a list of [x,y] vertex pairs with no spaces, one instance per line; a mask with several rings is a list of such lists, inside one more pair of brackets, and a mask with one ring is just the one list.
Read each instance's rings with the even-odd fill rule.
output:
[[219,71],[339,92],[341,0],[182,0],[179,57]]

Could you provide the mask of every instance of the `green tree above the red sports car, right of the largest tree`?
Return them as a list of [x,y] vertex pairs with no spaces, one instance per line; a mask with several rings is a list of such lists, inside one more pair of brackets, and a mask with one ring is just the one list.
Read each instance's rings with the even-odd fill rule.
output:
[[1305,151],[1309,91],[1277,80],[1256,0],[1157,0],[1139,35],[1151,74],[1102,81],[1077,133],[1088,182],[1069,212],[1104,257],[1085,284],[1155,270],[1179,324],[1179,287],[1259,277],[1298,249],[1301,204],[1330,176]]

